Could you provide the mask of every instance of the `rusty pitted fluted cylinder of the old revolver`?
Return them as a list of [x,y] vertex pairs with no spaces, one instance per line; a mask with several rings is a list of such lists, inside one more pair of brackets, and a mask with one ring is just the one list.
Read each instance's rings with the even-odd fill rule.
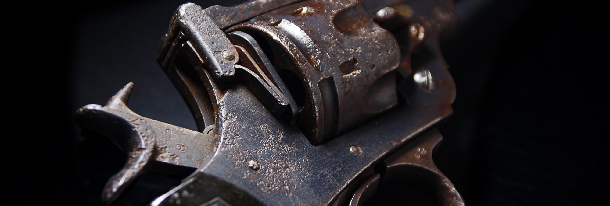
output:
[[276,69],[300,77],[306,98],[296,123],[312,144],[397,105],[398,43],[361,1],[298,2],[228,29],[234,30],[264,36]]

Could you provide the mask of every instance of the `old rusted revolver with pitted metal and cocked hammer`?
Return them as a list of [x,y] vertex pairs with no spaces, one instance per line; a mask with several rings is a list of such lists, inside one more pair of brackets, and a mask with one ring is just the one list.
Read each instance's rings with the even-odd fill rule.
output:
[[132,112],[132,83],[80,108],[79,126],[129,154],[102,199],[188,167],[152,205],[362,205],[397,181],[463,205],[432,162],[455,95],[439,39],[455,21],[445,0],[181,5],[157,61],[198,130]]

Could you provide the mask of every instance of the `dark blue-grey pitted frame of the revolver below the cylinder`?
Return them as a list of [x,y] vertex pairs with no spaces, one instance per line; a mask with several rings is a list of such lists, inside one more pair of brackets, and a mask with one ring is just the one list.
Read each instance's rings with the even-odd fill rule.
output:
[[[249,90],[235,84],[220,103],[218,151],[199,172],[239,185],[267,205],[331,204],[365,169],[452,113],[454,83],[447,67],[438,60],[423,67],[436,74],[436,91],[416,89],[404,94],[408,104],[320,146],[310,144],[298,129],[267,110],[258,109],[262,105]],[[361,147],[361,155],[350,152],[354,144]],[[249,168],[249,160],[256,160],[260,169]],[[181,198],[163,197],[157,202]]]

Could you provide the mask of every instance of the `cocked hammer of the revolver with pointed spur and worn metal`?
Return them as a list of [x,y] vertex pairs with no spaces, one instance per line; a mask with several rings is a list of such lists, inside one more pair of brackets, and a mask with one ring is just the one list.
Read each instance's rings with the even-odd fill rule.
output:
[[[127,163],[104,188],[102,201],[110,204],[145,171],[154,171],[152,162],[164,167],[198,168],[212,157],[217,141],[209,127],[197,132],[145,118],[127,107],[133,83],[128,83],[105,106],[85,105],[77,111],[81,128],[96,130],[127,152]],[[175,168],[174,168],[175,169]]]

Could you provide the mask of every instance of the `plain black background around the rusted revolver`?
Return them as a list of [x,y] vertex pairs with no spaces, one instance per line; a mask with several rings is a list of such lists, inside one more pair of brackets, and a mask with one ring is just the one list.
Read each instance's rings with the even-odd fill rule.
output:
[[[125,156],[95,133],[81,135],[74,114],[104,104],[127,82],[135,83],[134,112],[195,128],[154,60],[181,3],[10,7],[18,13],[7,18],[15,25],[5,41],[16,45],[5,49],[18,58],[5,65],[21,74],[5,76],[4,99],[23,108],[7,109],[18,112],[7,128],[16,135],[6,133],[9,202],[99,205]],[[434,158],[467,205],[607,204],[607,12],[526,0],[461,0],[456,8],[459,31],[442,49],[458,95]],[[178,181],[143,176],[118,204],[146,203]]]

